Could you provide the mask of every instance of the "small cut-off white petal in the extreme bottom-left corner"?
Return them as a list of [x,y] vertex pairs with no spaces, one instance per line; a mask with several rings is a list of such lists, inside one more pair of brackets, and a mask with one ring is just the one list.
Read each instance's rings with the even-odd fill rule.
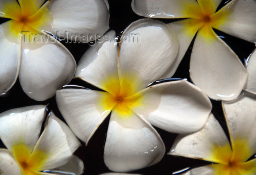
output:
[[0,174],[1,175],[23,175],[18,162],[7,149],[0,149]]

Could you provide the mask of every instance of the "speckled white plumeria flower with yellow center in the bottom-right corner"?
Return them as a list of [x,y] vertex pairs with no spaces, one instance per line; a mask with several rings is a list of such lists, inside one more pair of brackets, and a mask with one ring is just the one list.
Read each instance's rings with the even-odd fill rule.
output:
[[185,175],[256,174],[256,98],[248,93],[236,101],[222,102],[222,106],[231,143],[212,114],[203,129],[179,135],[174,141],[169,154],[214,163]]

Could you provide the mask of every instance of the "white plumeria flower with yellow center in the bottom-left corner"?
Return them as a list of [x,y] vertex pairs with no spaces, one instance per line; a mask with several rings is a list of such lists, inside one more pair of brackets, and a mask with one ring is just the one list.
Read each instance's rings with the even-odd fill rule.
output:
[[[74,133],[46,106],[11,109],[0,114],[0,138],[7,149],[0,149],[1,175],[80,175],[83,162],[73,156],[80,146]],[[38,138],[39,137],[39,138]]]

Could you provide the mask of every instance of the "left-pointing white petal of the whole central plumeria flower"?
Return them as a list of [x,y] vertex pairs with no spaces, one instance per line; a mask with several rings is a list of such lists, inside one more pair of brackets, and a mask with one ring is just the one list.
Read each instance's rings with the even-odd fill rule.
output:
[[113,108],[101,103],[100,99],[106,94],[86,89],[62,89],[56,92],[62,116],[75,135],[86,144]]

